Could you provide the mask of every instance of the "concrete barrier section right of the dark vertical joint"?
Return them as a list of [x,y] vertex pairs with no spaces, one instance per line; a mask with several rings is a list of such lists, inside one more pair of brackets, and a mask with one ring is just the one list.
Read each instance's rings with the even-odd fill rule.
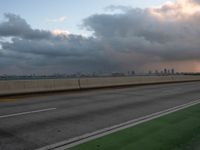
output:
[[116,77],[116,78],[86,78],[80,79],[80,87],[102,88],[114,86],[129,86],[138,84],[158,84],[171,82],[200,81],[200,76],[136,76],[136,77]]

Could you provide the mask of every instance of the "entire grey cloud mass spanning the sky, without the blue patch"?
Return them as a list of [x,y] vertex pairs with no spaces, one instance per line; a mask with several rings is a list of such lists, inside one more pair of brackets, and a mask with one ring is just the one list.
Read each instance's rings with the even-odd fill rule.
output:
[[149,9],[110,6],[112,13],[84,19],[83,26],[94,33],[91,37],[55,35],[5,14],[7,20],[0,23],[0,66],[53,73],[142,70],[151,63],[200,61],[198,3],[178,0]]

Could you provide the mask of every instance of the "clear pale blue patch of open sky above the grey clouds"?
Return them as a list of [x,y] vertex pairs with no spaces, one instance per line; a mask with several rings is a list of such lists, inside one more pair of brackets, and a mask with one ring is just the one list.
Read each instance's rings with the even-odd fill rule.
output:
[[[0,16],[13,13],[22,16],[33,28],[62,29],[88,34],[81,29],[82,20],[92,14],[105,13],[110,5],[138,8],[161,5],[166,0],[0,0]],[[108,13],[108,12],[106,12]],[[59,18],[65,19],[59,22]]]

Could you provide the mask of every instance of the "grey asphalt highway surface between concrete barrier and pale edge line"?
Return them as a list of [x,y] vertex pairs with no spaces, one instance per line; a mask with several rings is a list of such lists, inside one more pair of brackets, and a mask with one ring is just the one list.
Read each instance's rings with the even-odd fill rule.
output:
[[0,150],[34,150],[199,98],[200,82],[0,98]]

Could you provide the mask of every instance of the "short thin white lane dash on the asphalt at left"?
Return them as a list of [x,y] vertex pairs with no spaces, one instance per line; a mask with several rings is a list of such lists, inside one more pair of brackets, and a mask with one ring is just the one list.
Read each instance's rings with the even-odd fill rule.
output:
[[40,110],[27,111],[27,112],[21,112],[21,113],[9,114],[9,115],[2,115],[2,116],[0,116],[0,119],[15,117],[15,116],[28,115],[28,114],[34,114],[34,113],[40,113],[40,112],[46,112],[46,111],[52,111],[52,110],[55,110],[55,109],[56,108],[48,108],[48,109],[40,109]]

